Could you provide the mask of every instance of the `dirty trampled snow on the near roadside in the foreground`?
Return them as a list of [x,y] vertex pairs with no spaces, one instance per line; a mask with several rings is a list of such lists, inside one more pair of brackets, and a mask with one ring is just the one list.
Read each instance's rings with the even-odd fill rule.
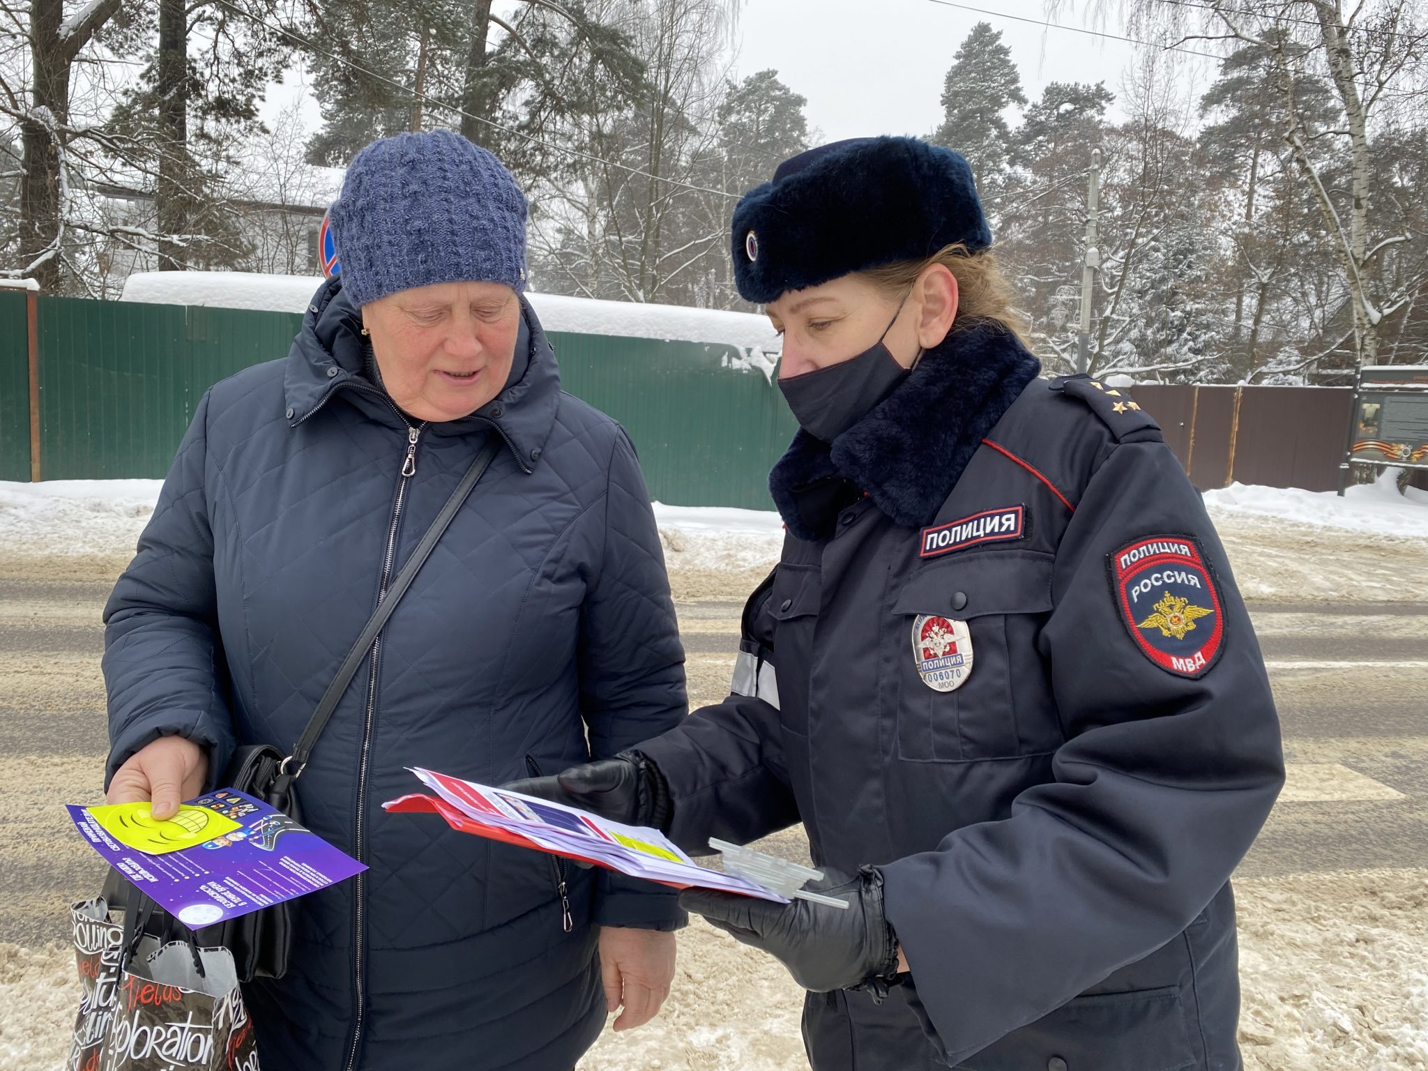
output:
[[[1237,883],[1245,1071],[1428,1068],[1428,874]],[[79,985],[63,948],[0,944],[0,1071],[60,1071]],[[703,920],[647,1027],[605,1031],[580,1071],[807,1071],[803,994]]]

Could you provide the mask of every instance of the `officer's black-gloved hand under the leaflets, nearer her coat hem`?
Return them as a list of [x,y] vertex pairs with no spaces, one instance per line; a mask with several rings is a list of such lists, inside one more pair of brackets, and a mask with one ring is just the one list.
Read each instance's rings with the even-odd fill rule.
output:
[[680,892],[680,907],[777,957],[805,990],[870,990],[881,1002],[897,974],[897,938],[883,914],[883,874],[874,867],[851,878],[831,868],[824,874],[805,888],[847,900],[847,908],[807,900],[774,904],[704,888]]

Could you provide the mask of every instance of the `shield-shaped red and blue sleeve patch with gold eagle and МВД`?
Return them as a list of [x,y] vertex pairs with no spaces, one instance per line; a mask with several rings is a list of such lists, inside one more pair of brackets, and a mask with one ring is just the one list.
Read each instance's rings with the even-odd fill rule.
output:
[[1110,560],[1121,620],[1141,653],[1167,673],[1204,677],[1225,645],[1224,610],[1200,544],[1151,536]]

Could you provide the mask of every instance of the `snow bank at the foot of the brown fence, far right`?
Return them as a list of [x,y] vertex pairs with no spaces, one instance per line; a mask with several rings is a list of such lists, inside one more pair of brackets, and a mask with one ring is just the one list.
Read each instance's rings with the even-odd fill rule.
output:
[[1334,491],[1231,484],[1205,491],[1205,504],[1324,528],[1428,538],[1428,491],[1409,487],[1399,494],[1395,471],[1389,468],[1377,483],[1347,488],[1342,498]]

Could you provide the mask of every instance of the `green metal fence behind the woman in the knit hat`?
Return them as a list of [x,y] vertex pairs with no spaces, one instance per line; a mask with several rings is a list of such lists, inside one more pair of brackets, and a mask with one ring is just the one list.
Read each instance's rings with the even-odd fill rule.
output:
[[[203,393],[287,354],[301,317],[196,306],[37,301],[44,480],[161,477]],[[630,431],[651,497],[771,508],[794,421],[731,346],[553,333],[561,381]],[[0,293],[0,478],[27,480],[23,294]]]

